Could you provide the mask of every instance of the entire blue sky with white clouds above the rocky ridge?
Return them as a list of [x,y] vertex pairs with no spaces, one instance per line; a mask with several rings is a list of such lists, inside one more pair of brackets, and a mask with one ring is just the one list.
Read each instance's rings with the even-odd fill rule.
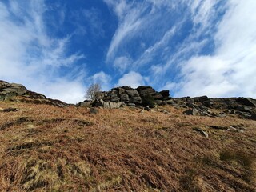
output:
[[256,98],[255,0],[0,0],[0,79],[63,102],[87,88]]

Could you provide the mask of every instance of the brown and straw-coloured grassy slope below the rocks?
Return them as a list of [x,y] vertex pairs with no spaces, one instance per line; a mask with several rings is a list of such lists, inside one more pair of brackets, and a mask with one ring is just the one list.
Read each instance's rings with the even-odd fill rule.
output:
[[0,191],[255,191],[255,121],[185,116],[171,106],[162,107],[170,114],[89,114],[0,102],[10,106],[20,110],[0,112]]

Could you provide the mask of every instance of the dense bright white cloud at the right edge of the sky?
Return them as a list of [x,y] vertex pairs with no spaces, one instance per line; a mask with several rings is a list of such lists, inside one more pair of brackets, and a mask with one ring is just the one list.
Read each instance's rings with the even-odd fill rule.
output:
[[218,25],[212,56],[194,56],[182,66],[176,96],[256,98],[256,2],[229,1]]

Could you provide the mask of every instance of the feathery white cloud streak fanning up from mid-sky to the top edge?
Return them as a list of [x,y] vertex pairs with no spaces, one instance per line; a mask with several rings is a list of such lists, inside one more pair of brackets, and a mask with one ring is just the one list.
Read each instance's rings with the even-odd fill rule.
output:
[[[161,19],[160,12],[154,15],[154,10],[160,3],[151,1],[131,2],[126,0],[104,0],[104,2],[113,8],[114,13],[118,17],[118,29],[114,33],[106,54],[106,62],[112,62],[116,57],[120,57],[117,55],[120,47],[125,45],[126,42],[133,40],[134,37],[143,31],[147,31],[149,28],[152,30],[151,26],[157,23],[158,19]],[[166,1],[162,1],[161,4],[164,2]],[[145,13],[149,9],[152,11]]]

